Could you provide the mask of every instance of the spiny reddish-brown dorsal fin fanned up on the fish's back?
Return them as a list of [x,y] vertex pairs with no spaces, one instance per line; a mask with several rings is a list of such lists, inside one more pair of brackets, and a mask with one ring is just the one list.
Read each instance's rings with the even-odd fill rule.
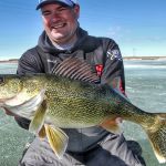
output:
[[97,83],[100,81],[100,77],[92,72],[91,65],[79,58],[65,59],[54,66],[52,74],[90,83]]

